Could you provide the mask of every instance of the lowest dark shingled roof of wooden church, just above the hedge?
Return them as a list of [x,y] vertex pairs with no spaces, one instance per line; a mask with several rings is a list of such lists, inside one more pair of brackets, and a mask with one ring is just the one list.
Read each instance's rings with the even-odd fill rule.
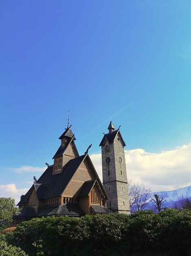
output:
[[85,213],[81,210],[79,205],[77,204],[63,204],[63,205],[54,205],[45,207],[40,213],[38,213],[37,217],[41,216],[76,216],[80,217],[85,215]]

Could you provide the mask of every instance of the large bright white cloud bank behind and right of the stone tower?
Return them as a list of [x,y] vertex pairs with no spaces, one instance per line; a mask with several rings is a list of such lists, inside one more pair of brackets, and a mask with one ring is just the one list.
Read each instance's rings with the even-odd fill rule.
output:
[[[101,154],[91,155],[102,179]],[[125,150],[127,178],[152,191],[170,191],[191,185],[191,143],[175,150],[149,153],[142,148]]]

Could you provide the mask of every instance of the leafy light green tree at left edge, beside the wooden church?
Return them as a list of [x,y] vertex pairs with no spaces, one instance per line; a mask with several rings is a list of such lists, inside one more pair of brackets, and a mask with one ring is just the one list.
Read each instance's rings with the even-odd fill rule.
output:
[[20,211],[15,207],[13,198],[0,198],[0,230],[8,227],[12,223],[13,215],[19,214]]

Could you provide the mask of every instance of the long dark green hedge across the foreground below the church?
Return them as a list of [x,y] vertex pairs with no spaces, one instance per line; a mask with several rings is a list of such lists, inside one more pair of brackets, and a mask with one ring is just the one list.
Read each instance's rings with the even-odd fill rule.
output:
[[191,211],[33,219],[6,237],[29,256],[191,255]]

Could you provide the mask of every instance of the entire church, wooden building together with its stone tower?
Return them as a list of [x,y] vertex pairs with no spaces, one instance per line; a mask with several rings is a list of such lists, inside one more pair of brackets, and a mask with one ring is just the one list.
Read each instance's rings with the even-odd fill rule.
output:
[[[119,127],[120,128],[120,127]],[[102,154],[103,184],[88,155],[79,156],[71,126],[59,137],[60,146],[53,156],[54,164],[22,195],[17,204],[20,215],[13,224],[42,216],[80,217],[86,214],[113,212],[130,214],[125,142],[112,121],[99,146]]]

